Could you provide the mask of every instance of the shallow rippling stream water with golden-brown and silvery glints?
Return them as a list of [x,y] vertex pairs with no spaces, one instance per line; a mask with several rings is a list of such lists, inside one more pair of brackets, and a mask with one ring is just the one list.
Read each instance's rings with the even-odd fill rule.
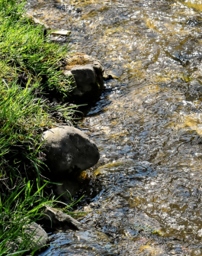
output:
[[202,1],[28,8],[114,76],[80,125],[101,152],[79,209],[97,231],[53,235],[43,255],[202,255]]

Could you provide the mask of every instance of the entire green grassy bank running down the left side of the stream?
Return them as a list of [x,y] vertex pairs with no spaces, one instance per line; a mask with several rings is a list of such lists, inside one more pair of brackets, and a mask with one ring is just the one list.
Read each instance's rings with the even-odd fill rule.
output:
[[[0,255],[29,248],[19,239],[19,219],[36,220],[50,203],[40,174],[40,135],[59,122],[59,109],[63,120],[72,115],[48,100],[51,94],[71,94],[71,81],[59,71],[69,46],[51,43],[44,28],[23,14],[24,2],[0,1]],[[10,246],[16,239],[18,246]]]

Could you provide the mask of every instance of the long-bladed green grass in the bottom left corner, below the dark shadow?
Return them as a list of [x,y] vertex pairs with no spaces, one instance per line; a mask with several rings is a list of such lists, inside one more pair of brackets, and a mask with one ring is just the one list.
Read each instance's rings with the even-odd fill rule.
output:
[[29,234],[26,230],[40,219],[44,206],[54,202],[43,197],[44,186],[46,184],[33,192],[33,185],[27,182],[22,188],[18,186],[9,197],[0,195],[0,256],[34,253],[37,241],[30,236],[34,237],[35,232]]

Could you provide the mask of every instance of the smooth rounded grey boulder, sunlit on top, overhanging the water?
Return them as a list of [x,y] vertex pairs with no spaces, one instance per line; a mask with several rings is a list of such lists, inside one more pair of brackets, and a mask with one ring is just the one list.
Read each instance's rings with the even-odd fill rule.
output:
[[98,147],[84,132],[63,125],[43,133],[46,164],[58,178],[86,170],[99,160]]

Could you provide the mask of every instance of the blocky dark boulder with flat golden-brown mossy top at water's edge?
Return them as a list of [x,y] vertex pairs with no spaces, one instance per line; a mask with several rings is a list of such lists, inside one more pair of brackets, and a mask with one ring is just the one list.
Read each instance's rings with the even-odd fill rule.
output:
[[75,53],[66,58],[61,67],[66,76],[72,78],[72,99],[76,103],[95,102],[104,87],[103,68],[98,60],[83,53]]

